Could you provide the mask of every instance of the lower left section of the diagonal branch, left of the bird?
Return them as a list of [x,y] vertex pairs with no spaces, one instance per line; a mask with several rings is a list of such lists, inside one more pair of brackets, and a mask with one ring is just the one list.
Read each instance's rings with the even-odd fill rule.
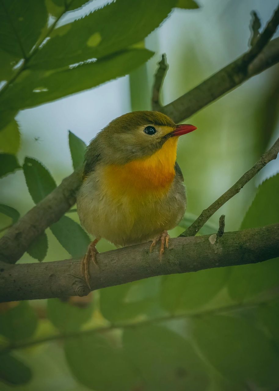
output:
[[15,263],[36,237],[70,209],[75,203],[80,179],[80,172],[73,172],[10,228],[0,239],[0,260]]

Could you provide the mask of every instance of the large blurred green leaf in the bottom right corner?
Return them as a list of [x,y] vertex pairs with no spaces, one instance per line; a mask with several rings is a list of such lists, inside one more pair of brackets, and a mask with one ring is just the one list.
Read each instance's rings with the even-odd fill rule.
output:
[[223,376],[240,384],[278,386],[279,357],[270,340],[252,323],[233,316],[192,320],[200,352]]

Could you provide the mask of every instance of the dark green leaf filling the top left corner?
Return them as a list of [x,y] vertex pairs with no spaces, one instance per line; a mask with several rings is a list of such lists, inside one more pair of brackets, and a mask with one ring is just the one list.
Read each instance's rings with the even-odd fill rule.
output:
[[0,47],[26,58],[47,22],[44,0],[0,2]]

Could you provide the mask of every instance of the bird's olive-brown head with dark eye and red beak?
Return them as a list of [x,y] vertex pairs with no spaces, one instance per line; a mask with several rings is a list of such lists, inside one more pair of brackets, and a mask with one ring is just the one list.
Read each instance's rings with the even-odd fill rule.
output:
[[178,136],[197,129],[176,125],[158,111],[134,111],[111,121],[97,136],[106,163],[125,164],[153,155],[166,144],[175,146]]

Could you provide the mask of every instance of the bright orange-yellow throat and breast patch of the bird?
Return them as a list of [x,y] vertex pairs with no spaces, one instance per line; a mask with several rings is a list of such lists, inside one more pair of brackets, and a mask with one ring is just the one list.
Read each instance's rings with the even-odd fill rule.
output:
[[178,137],[170,138],[159,151],[147,158],[133,160],[125,165],[109,165],[104,168],[103,179],[113,198],[125,193],[131,197],[152,192],[165,194],[175,176],[175,160]]

